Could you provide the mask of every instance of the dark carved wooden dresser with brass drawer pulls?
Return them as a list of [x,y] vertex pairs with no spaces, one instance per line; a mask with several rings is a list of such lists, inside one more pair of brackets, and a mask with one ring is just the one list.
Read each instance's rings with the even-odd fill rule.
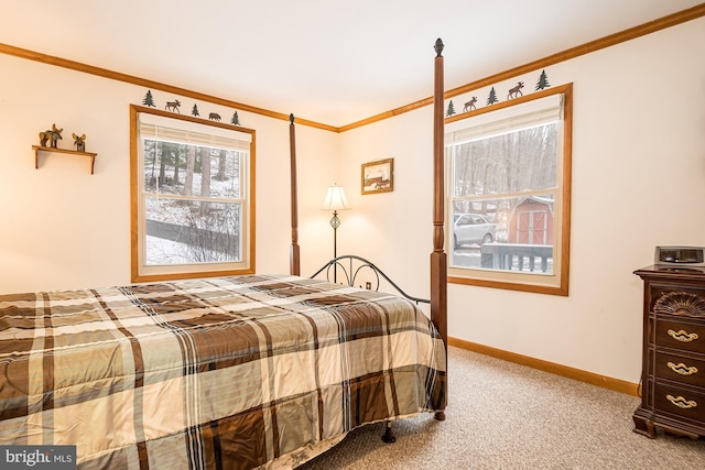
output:
[[705,267],[649,266],[644,281],[641,405],[634,433],[655,426],[705,436]]

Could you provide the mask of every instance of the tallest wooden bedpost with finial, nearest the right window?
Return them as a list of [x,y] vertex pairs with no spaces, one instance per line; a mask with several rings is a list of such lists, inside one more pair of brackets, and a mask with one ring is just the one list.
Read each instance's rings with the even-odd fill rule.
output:
[[[438,329],[448,351],[447,327],[447,256],[443,251],[444,236],[444,171],[443,171],[443,41],[435,44],[435,75],[433,92],[433,253],[431,253],[431,320]],[[446,360],[447,374],[447,360]],[[447,376],[447,375],[446,375]],[[443,408],[447,403],[447,386],[443,391]],[[436,412],[436,419],[444,420],[445,413]]]

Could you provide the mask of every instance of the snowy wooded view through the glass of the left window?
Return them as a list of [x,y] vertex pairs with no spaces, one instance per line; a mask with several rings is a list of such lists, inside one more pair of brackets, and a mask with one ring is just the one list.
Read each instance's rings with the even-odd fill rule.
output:
[[239,261],[241,152],[145,139],[143,155],[147,264]]

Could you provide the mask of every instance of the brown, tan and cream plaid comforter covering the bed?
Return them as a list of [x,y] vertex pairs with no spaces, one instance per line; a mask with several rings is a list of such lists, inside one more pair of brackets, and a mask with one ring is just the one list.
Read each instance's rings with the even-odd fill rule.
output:
[[0,295],[0,444],[76,445],[82,469],[295,467],[444,387],[436,330],[388,294],[251,275]]

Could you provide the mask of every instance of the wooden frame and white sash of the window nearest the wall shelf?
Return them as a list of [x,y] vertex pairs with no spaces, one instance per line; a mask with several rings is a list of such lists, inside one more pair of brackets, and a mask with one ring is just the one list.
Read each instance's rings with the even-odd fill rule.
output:
[[[148,264],[145,256],[145,197],[142,159],[143,138],[154,138],[155,129],[193,133],[196,139],[228,142],[245,154],[240,161],[240,253],[237,261],[193,264]],[[144,135],[142,135],[144,134]],[[130,212],[131,281],[154,282],[177,278],[254,273],[254,131],[232,124],[181,116],[153,108],[130,106]],[[214,199],[214,201],[217,201]]]

